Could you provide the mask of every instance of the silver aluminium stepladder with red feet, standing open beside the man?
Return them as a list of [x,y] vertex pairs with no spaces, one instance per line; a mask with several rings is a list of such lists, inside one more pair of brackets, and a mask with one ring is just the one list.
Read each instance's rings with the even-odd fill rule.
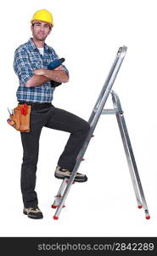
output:
[[[98,123],[98,119],[101,114],[115,114],[116,116],[116,119],[120,128],[120,132],[121,132],[122,143],[126,153],[127,164],[132,177],[133,189],[137,198],[137,207],[138,208],[143,207],[145,212],[145,217],[147,219],[150,218],[145,196],[143,194],[142,183],[140,181],[140,177],[137,172],[137,165],[136,165],[136,161],[132,151],[131,141],[126,128],[126,122],[125,122],[123,111],[121,108],[121,102],[117,94],[113,90],[111,90],[115,82],[116,75],[119,72],[119,69],[121,67],[121,63],[126,55],[126,49],[127,49],[126,46],[120,47],[115,56],[115,61],[109,71],[109,75],[104,83],[104,86],[100,92],[100,95],[98,96],[98,100],[93,108],[93,112],[88,120],[88,123],[90,124],[90,131],[88,132],[87,138],[81,148],[80,153],[77,156],[76,165],[74,166],[74,169],[71,172],[70,178],[64,178],[59,188],[58,194],[55,196],[55,200],[52,205],[52,208],[56,208],[56,212],[53,216],[54,219],[59,218],[59,214],[62,208],[64,207],[64,202],[67,198],[68,193],[70,192],[71,185],[74,183],[76,172],[81,164],[81,160],[83,160],[82,157],[86,152],[87,146],[91,138],[93,137],[93,131]],[[104,105],[108,99],[109,93],[111,93],[114,108],[104,109]]]

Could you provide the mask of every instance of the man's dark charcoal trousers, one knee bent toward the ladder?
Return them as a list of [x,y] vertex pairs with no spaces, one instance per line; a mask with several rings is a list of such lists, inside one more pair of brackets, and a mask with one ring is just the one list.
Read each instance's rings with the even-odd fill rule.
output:
[[42,127],[70,132],[68,142],[59,157],[58,165],[73,170],[76,156],[87,137],[90,125],[73,113],[55,108],[53,105],[42,109],[31,108],[31,131],[20,132],[23,146],[21,166],[21,192],[24,207],[36,207],[38,204],[36,187],[36,165],[39,152],[39,139]]

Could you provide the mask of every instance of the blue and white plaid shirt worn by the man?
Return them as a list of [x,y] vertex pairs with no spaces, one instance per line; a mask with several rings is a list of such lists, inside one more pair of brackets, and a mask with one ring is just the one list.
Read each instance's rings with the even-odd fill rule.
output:
[[[48,68],[48,64],[59,59],[54,49],[44,44],[44,55],[30,38],[25,44],[21,44],[14,52],[14,72],[19,77],[20,86],[16,92],[18,102],[52,102],[53,90],[51,83],[47,82],[31,88],[25,87],[25,83],[34,75],[33,70]],[[64,73],[69,75],[68,70],[62,65]]]

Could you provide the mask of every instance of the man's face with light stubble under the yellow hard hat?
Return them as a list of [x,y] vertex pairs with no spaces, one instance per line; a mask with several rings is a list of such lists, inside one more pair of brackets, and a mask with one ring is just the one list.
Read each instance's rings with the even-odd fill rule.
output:
[[36,40],[45,41],[51,32],[51,26],[47,22],[35,20],[33,25],[31,25],[31,31]]

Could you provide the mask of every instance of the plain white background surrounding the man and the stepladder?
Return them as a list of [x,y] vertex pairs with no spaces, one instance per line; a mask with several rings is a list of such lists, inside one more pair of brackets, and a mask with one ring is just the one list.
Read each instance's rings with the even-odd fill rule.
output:
[[[115,116],[102,116],[79,172],[87,183],[70,190],[66,208],[53,220],[53,196],[59,155],[68,133],[43,128],[36,191],[44,218],[23,215],[20,193],[20,133],[6,122],[15,108],[18,78],[14,50],[31,37],[37,9],[53,13],[46,43],[66,59],[70,82],[54,93],[54,106],[88,120],[120,46],[128,47],[114,90],[121,98],[137,168],[151,218],[137,209]],[[1,3],[1,172],[0,236],[157,236],[157,121],[155,0],[45,0]],[[112,106],[110,98],[107,103]]]

